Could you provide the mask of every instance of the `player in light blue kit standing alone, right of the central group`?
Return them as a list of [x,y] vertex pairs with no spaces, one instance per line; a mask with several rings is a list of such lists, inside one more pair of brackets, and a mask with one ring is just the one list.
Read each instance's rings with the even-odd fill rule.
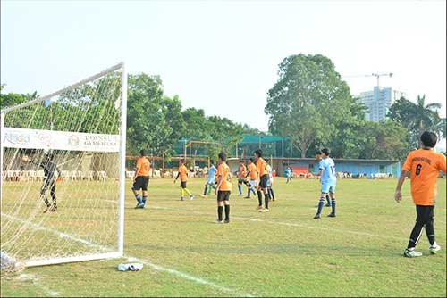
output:
[[337,176],[335,175],[335,163],[330,158],[330,150],[325,148],[321,151],[323,159],[320,161],[318,168],[319,172],[317,176],[321,180],[321,196],[318,202],[318,210],[314,219],[321,219],[321,211],[325,205],[325,197],[327,194],[331,197],[331,205],[333,211],[328,215],[330,218],[335,217],[335,186],[337,186]]

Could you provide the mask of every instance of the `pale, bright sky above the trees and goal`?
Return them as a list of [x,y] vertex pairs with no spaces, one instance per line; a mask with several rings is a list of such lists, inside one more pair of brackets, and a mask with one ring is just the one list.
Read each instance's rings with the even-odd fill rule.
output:
[[[290,54],[325,54],[342,76],[426,94],[445,116],[444,1],[1,2],[4,92],[45,95],[124,61],[167,95],[267,129],[266,92]],[[346,78],[351,93],[374,78]]]

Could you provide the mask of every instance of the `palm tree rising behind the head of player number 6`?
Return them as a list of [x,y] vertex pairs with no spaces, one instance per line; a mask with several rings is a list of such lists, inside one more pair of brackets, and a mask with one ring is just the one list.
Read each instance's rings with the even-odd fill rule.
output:
[[441,103],[426,104],[426,95],[417,95],[417,103],[401,98],[392,104],[388,114],[391,120],[409,130],[409,145],[419,147],[419,137],[425,130],[445,137],[445,118],[439,116]]

